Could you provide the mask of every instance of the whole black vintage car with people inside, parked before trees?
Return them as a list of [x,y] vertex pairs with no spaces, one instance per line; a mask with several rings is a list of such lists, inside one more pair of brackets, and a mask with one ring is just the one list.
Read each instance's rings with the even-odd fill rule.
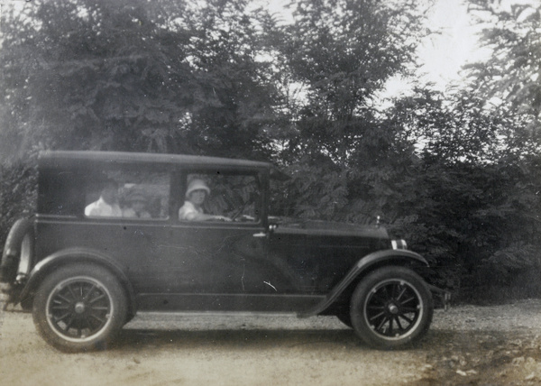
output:
[[37,213],[5,242],[9,301],[69,352],[104,347],[138,311],[335,315],[379,348],[424,335],[426,260],[378,225],[271,216],[285,177],[257,161],[42,152]]

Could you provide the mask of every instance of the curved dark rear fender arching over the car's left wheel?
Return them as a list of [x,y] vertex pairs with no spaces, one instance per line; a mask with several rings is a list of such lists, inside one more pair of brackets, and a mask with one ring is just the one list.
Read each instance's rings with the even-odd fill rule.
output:
[[87,248],[68,248],[56,253],[52,253],[47,256],[45,259],[38,262],[28,277],[28,281],[23,288],[20,296],[20,302],[28,301],[32,299],[33,292],[38,288],[41,283],[41,280],[56,267],[66,264],[66,263],[78,263],[78,262],[96,262],[101,266],[109,269],[115,274],[118,278],[120,284],[126,290],[126,296],[128,297],[129,305],[129,314],[131,316],[135,315],[136,312],[136,303],[135,296],[133,292],[133,286],[128,276],[126,275],[126,269],[124,266],[115,262],[114,259],[107,256],[105,253],[101,253],[96,250],[87,249]]

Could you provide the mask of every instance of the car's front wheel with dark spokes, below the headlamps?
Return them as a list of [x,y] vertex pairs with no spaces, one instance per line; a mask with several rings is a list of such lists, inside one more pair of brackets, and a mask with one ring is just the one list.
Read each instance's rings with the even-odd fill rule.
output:
[[433,313],[425,281],[407,268],[373,271],[353,292],[353,329],[374,348],[394,349],[416,342],[426,334]]

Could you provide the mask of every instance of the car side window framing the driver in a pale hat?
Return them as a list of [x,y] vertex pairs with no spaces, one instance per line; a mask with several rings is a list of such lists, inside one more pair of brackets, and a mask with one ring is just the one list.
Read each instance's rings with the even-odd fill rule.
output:
[[258,180],[253,174],[189,173],[179,220],[258,222]]

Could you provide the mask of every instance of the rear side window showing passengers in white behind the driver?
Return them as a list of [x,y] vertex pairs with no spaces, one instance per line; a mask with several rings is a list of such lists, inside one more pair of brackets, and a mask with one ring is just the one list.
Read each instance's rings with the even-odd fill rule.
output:
[[108,170],[87,181],[85,216],[167,219],[170,176],[145,170]]

